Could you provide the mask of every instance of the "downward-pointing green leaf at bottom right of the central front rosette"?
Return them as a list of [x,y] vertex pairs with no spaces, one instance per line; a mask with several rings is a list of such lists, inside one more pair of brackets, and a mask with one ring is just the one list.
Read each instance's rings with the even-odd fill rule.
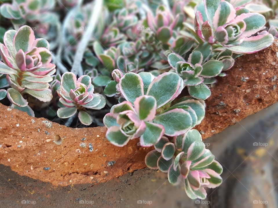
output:
[[141,146],[149,147],[156,144],[164,134],[162,125],[145,122],[146,129],[140,137]]

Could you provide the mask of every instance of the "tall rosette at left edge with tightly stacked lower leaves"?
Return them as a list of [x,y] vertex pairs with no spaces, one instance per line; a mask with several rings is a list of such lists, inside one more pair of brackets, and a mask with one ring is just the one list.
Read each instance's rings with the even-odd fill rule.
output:
[[[7,90],[10,102],[19,107],[27,107],[28,102],[22,97],[30,94],[40,101],[52,99],[49,82],[56,71],[51,64],[52,55],[49,43],[43,39],[35,39],[29,26],[22,26],[18,31],[8,30],[4,35],[4,44],[0,44],[0,73],[6,74]],[[29,109],[29,113],[32,109]],[[31,113],[33,115],[33,113]]]

